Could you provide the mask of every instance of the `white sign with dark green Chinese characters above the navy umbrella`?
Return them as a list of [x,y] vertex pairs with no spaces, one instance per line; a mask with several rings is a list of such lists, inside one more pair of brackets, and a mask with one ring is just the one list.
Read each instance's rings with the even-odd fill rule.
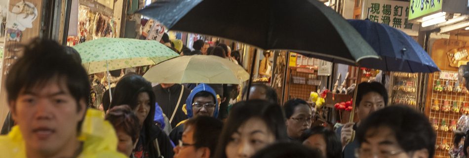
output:
[[399,29],[409,36],[417,36],[419,25],[409,22],[409,2],[397,0],[366,0],[362,15],[377,23]]

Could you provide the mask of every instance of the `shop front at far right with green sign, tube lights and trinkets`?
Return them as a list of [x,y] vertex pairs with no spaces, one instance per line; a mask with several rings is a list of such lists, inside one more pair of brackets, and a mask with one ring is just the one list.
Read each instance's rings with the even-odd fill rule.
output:
[[426,48],[441,70],[426,76],[423,80],[427,83],[426,90],[421,96],[425,114],[436,132],[435,158],[448,158],[454,147],[454,134],[461,132],[457,130],[457,122],[469,114],[469,91],[458,79],[459,66],[469,61],[466,48],[469,41],[466,31],[469,27],[468,1],[410,2],[409,21],[426,33]]

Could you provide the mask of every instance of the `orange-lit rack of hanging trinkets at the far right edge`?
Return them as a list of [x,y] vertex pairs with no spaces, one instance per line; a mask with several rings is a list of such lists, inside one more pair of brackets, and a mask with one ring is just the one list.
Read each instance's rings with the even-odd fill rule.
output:
[[[466,133],[469,114],[468,89],[458,78],[460,63],[469,60],[463,40],[435,40],[431,58],[441,69],[429,75],[426,103],[426,115],[433,120],[436,131],[435,158],[448,158],[453,147],[454,133]],[[436,60],[438,59],[438,60]]]

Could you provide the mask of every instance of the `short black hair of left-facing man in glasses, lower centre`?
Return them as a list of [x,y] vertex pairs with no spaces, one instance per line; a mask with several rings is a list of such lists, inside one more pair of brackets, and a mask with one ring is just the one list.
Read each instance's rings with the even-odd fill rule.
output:
[[223,122],[218,118],[200,116],[189,119],[184,123],[184,128],[191,126],[194,130],[195,149],[207,147],[210,149],[210,157],[215,155],[218,137],[222,133]]

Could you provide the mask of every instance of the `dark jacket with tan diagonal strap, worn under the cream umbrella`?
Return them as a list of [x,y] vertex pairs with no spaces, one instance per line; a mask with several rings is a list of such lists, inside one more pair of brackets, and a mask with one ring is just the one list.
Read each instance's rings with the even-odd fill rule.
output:
[[[161,83],[154,86],[153,91],[155,92],[156,103],[158,103],[163,113],[169,118],[171,127],[174,128],[176,124],[187,118],[186,114],[182,111],[182,106],[191,93],[190,89],[181,84]],[[178,102],[179,105],[177,105]]]

